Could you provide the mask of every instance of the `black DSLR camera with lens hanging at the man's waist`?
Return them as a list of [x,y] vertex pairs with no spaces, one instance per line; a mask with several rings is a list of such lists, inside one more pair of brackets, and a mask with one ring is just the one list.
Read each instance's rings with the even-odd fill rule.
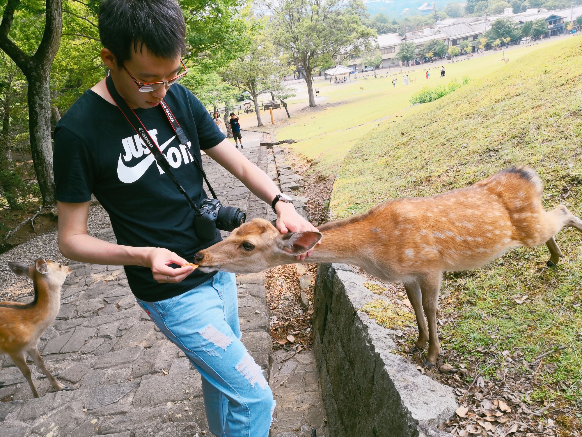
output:
[[204,199],[200,215],[194,216],[196,236],[203,241],[216,238],[217,228],[232,231],[247,220],[247,214],[234,206],[223,206],[218,199]]

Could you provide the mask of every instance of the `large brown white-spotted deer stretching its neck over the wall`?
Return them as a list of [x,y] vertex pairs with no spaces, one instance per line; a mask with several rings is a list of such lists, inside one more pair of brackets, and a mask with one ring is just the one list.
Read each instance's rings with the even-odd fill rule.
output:
[[280,234],[267,220],[255,218],[198,252],[195,262],[203,272],[260,272],[299,262],[296,255],[321,240],[304,262],[352,264],[404,284],[418,322],[414,349],[423,349],[428,340],[425,364],[434,365],[440,351],[437,302],[443,272],[475,269],[509,248],[543,243],[550,252],[548,266],[555,266],[562,256],[556,232],[566,225],[582,231],[582,221],[564,205],[544,210],[541,193],[533,170],[513,167],[469,188],[387,200],[367,213],[326,223],[320,232]]

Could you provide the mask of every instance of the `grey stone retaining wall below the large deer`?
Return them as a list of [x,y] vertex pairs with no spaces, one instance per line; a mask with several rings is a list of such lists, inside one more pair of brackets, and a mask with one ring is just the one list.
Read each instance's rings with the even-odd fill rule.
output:
[[394,332],[359,311],[379,298],[364,281],[347,265],[317,273],[314,350],[330,434],[450,436],[436,427],[455,413],[452,389],[391,353]]

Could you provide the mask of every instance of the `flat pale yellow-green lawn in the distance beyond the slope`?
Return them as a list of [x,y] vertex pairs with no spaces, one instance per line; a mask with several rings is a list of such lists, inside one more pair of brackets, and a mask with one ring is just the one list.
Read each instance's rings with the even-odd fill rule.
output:
[[[553,47],[564,41],[565,39],[553,40],[545,43],[543,47]],[[518,64],[521,57],[539,50],[539,47],[519,47],[507,51],[506,55],[510,57],[509,65]],[[460,82],[463,76],[488,80],[493,77],[495,71],[508,68],[501,58],[502,54],[498,52],[486,57],[475,55],[469,61],[454,64],[444,61],[446,77],[443,79],[439,77],[439,69],[431,69],[431,79],[426,80],[425,70],[418,65],[409,75],[412,80],[409,86],[403,85],[403,75],[396,76],[398,83],[395,89],[392,87],[391,76],[376,79],[370,76],[367,80],[352,80],[351,83],[340,85],[317,80],[314,86],[320,88],[320,95],[326,100],[318,99],[320,105],[318,111],[294,115],[292,124],[276,129],[277,138],[301,140],[292,145],[293,151],[307,159],[315,160],[315,170],[324,174],[335,174],[347,151],[378,126],[379,121],[373,122],[374,120],[386,119],[385,122],[392,122],[394,119],[400,119],[398,116],[404,114],[404,108],[409,108],[407,113],[411,110],[412,94],[420,91],[423,86],[446,84],[453,78]],[[363,87],[364,91],[361,91],[360,87]],[[338,102],[342,104],[332,105],[328,110],[324,109]]]

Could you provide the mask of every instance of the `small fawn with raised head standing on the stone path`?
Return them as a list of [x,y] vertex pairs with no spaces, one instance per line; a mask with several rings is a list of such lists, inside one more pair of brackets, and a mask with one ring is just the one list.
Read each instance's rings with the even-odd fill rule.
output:
[[24,353],[27,352],[38,368],[47,375],[56,390],[70,390],[62,385],[47,370],[38,353],[38,339],[52,325],[61,308],[61,286],[73,270],[59,263],[37,259],[33,266],[9,262],[12,272],[28,276],[34,284],[34,301],[0,302],[0,354],[8,354],[29,382],[34,397],[38,392],[34,387],[29,366]]

